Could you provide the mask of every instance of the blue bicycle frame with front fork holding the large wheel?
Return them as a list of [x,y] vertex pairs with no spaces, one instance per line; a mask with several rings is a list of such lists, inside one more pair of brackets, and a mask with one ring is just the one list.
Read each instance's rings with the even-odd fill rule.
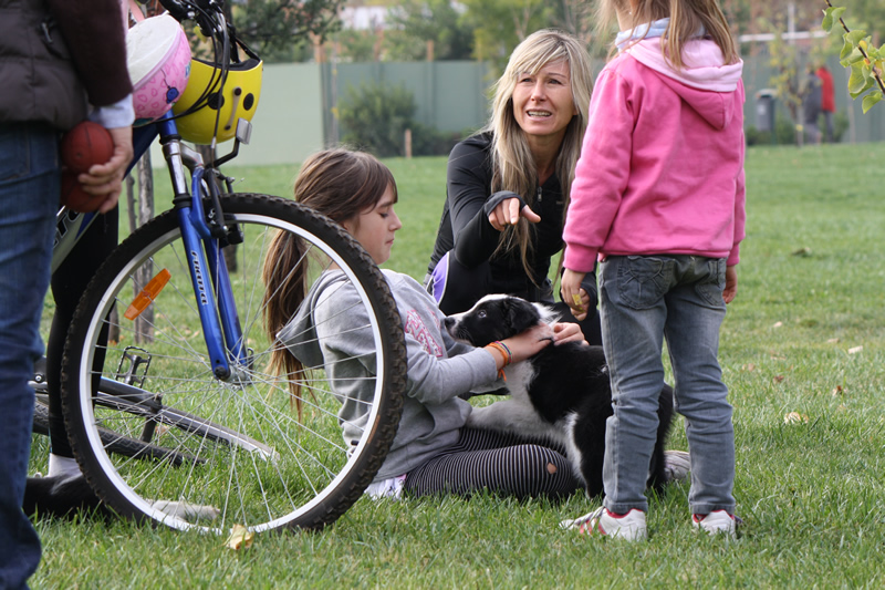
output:
[[[133,130],[134,157],[127,173],[140,159],[154,139],[159,136],[163,154],[173,184],[173,206],[176,209],[181,239],[188,252],[190,279],[194,286],[197,309],[202,324],[212,374],[228,381],[240,372],[231,370],[231,361],[236,365],[248,362],[243,345],[242,329],[233,303],[232,287],[228,275],[220,239],[225,239],[229,228],[223,226],[223,214],[216,207],[214,215],[220,226],[210,227],[204,209],[204,195],[218,204],[217,179],[206,174],[202,157],[181,143],[170,112],[158,121]],[[236,144],[235,144],[236,145]],[[235,151],[237,147],[235,147]],[[191,186],[188,190],[188,174]],[[71,253],[83,232],[95,220],[96,214],[79,214],[62,208],[56,214],[55,240],[52,253],[52,271]],[[212,286],[207,284],[207,275]],[[228,356],[227,351],[230,351]]]

